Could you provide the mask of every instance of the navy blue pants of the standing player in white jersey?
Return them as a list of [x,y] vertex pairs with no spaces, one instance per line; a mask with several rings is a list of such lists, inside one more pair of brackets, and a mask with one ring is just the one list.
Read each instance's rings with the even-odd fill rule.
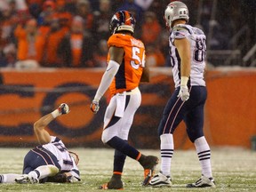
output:
[[188,138],[194,142],[204,136],[204,103],[207,98],[204,86],[191,86],[190,97],[187,101],[177,98],[180,87],[172,93],[168,100],[161,122],[158,126],[159,136],[164,133],[173,133],[182,120],[187,126]]

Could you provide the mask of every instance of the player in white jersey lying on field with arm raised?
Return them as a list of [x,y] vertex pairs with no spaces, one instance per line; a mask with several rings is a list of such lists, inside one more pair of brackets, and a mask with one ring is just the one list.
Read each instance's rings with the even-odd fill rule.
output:
[[34,124],[34,132],[40,146],[31,149],[24,157],[23,174],[2,174],[0,183],[76,182],[80,173],[76,166],[78,156],[68,151],[64,143],[51,136],[44,128],[56,117],[68,114],[69,108],[62,103],[52,113],[42,116]]

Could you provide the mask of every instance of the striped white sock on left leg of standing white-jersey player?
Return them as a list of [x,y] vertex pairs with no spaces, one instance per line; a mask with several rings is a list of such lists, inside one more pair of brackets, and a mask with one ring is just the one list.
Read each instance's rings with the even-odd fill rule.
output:
[[160,136],[161,140],[161,172],[165,176],[171,174],[172,155],[174,150],[172,134],[163,134]]

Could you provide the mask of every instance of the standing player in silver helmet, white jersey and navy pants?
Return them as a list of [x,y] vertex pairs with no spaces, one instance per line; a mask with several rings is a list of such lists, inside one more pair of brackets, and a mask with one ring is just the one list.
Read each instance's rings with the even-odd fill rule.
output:
[[170,187],[171,163],[174,151],[172,134],[183,120],[188,138],[195,144],[202,176],[188,188],[215,188],[212,178],[211,150],[204,138],[204,103],[207,97],[204,68],[206,37],[199,28],[188,25],[188,7],[180,1],[167,5],[164,18],[170,28],[169,48],[175,91],[168,100],[158,133],[161,140],[161,171],[149,185]]

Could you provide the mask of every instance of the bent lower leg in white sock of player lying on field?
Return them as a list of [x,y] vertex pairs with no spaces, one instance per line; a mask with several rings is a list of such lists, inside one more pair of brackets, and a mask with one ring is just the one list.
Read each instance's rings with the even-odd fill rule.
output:
[[58,172],[59,169],[56,166],[48,164],[37,167],[34,171],[29,172],[28,175],[37,178],[38,180],[42,180],[45,177],[54,176]]

